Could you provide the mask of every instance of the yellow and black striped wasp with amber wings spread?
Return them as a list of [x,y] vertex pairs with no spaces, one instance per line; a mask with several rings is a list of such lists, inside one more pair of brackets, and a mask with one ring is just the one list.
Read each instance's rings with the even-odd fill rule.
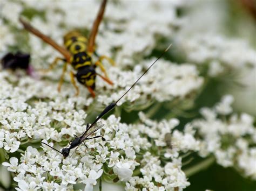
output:
[[[114,65],[114,61],[104,55],[99,56],[98,61],[96,61],[95,63],[93,63],[92,61],[92,54],[95,52],[94,50],[95,39],[98,33],[99,24],[103,19],[106,2],[107,0],[103,0],[102,4],[100,5],[100,9],[95,19],[95,22],[93,23],[88,41],[79,32],[71,31],[65,34],[64,36],[65,47],[58,45],[50,37],[45,36],[42,32],[35,29],[35,27],[31,26],[28,22],[25,22],[23,18],[19,18],[20,22],[23,24],[26,30],[35,34],[37,37],[41,38],[43,41],[45,41],[45,43],[48,43],[53,48],[57,49],[57,51],[59,51],[64,56],[64,58],[56,58],[51,63],[49,69],[46,69],[46,70],[51,70],[53,67],[57,65],[58,61],[60,60],[64,61],[63,72],[58,84],[58,91],[60,91],[60,87],[62,86],[68,63],[70,63],[72,67],[75,70],[77,70],[76,74],[74,74],[73,72],[70,72],[71,82],[73,86],[76,88],[76,95],[79,94],[79,89],[76,85],[75,77],[79,83],[82,83],[84,86],[87,87],[92,97],[95,97],[94,89],[95,89],[96,75],[100,76],[107,83],[113,84],[113,82],[107,77],[105,68],[102,65],[102,60],[106,59],[112,65]],[[97,66],[100,67],[100,69],[104,73],[104,76],[96,73],[95,68]]]

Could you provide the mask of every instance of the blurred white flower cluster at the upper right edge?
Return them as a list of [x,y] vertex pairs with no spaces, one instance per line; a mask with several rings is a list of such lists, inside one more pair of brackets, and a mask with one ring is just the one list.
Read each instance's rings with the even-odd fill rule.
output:
[[218,76],[230,68],[256,67],[256,51],[242,39],[227,39],[221,35],[206,33],[189,38],[182,36],[179,43],[188,61],[209,63],[210,76]]

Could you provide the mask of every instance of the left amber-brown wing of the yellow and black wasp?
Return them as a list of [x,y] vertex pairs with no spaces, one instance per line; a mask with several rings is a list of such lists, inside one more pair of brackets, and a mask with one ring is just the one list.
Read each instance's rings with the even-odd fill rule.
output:
[[35,36],[41,38],[43,41],[45,41],[45,43],[51,45],[53,48],[57,49],[57,51],[59,51],[67,61],[70,60],[71,58],[71,54],[69,53],[69,51],[58,45],[54,40],[52,40],[50,37],[46,36],[45,34],[43,34],[42,32],[38,31],[35,27],[31,26],[28,22],[26,22],[23,18],[19,17],[19,21],[22,23],[22,25],[24,26],[24,28],[35,34]]

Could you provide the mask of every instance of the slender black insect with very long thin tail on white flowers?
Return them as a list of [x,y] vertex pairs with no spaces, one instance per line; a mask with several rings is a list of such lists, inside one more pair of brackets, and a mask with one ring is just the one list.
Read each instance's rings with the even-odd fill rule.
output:
[[146,69],[146,71],[136,80],[136,82],[134,82],[132,84],[132,86],[116,101],[116,102],[113,102],[111,104],[109,104],[100,114],[99,116],[95,119],[95,121],[89,125],[89,123],[87,123],[87,126],[86,126],[86,130],[79,136],[76,136],[76,138],[74,140],[72,140],[72,142],[70,143],[70,147],[66,147],[66,148],[63,148],[63,150],[61,152],[59,152],[58,150],[56,150],[55,148],[53,148],[52,146],[46,144],[46,143],[43,143],[51,148],[53,148],[55,151],[59,152],[60,154],[62,154],[64,157],[68,157],[69,153],[70,153],[70,150],[72,148],[75,148],[77,146],[79,146],[80,144],[84,143],[85,140],[89,140],[89,139],[94,139],[94,138],[99,138],[101,137],[102,140],[105,141],[105,138],[103,136],[96,136],[96,137],[91,137],[91,138],[88,138],[90,135],[92,135],[92,133],[96,132],[97,130],[99,130],[100,128],[103,127],[103,124],[101,124],[99,121],[100,118],[102,118],[107,112],[109,112],[110,110],[112,110],[114,107],[116,107],[117,105],[117,102],[119,102],[132,88],[133,86],[135,86],[135,84],[142,78],[142,76],[144,74],[147,73],[147,71],[149,71],[149,69],[154,65],[154,63],[156,63],[160,58],[161,56],[163,56],[165,54],[165,52],[168,51],[168,49],[171,47],[171,45],[169,47],[167,47],[165,49],[165,51],[151,64],[151,66],[149,68]]

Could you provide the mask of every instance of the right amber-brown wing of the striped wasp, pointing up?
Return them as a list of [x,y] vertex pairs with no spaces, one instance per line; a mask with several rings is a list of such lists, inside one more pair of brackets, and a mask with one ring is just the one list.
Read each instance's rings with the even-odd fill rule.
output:
[[90,37],[89,37],[89,41],[88,41],[88,48],[87,48],[87,51],[89,53],[94,52],[95,39],[96,39],[96,36],[97,36],[97,33],[98,33],[99,24],[102,21],[102,18],[103,18],[103,15],[104,15],[106,2],[107,2],[107,0],[104,0],[102,2],[102,5],[100,5],[98,15],[97,15],[97,17],[96,17],[96,19],[93,23],[92,30],[91,30]]

